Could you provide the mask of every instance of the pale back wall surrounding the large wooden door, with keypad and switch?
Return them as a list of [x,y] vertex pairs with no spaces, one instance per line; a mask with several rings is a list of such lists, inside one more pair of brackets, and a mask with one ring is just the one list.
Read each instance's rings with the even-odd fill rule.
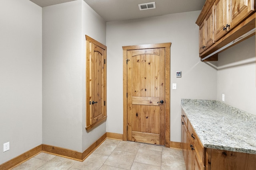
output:
[[[122,46],[171,42],[170,137],[180,141],[180,100],[182,98],[211,99],[217,96],[217,71],[200,62],[198,55],[198,26],[200,11],[158,17],[107,22],[107,131],[123,132],[123,73]],[[176,70],[182,78],[176,78]]]

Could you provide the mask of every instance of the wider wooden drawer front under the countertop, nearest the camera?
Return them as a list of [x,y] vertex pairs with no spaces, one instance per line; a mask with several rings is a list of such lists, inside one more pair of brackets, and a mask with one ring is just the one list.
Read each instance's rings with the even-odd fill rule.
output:
[[204,147],[196,135],[196,132],[194,131],[192,125],[190,124],[190,121],[188,121],[188,138],[191,139],[192,145],[194,146],[195,151],[198,153],[198,156],[202,162],[204,162]]

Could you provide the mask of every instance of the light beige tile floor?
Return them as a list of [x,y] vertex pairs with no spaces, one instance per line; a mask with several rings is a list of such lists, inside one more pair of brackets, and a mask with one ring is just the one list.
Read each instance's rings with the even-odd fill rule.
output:
[[182,150],[106,139],[83,162],[41,152],[13,170],[185,170]]

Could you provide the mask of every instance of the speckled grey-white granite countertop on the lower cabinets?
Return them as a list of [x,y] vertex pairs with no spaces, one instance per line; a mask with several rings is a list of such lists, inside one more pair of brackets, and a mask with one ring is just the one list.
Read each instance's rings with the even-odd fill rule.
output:
[[216,100],[181,100],[206,148],[256,154],[256,115]]

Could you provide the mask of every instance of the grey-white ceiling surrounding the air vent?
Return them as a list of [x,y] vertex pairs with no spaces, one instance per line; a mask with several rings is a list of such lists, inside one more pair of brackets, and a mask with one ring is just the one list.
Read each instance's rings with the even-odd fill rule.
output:
[[[45,7],[74,0],[30,0]],[[84,0],[106,21],[130,20],[202,10],[205,0]],[[156,2],[156,9],[139,10],[138,4]]]

